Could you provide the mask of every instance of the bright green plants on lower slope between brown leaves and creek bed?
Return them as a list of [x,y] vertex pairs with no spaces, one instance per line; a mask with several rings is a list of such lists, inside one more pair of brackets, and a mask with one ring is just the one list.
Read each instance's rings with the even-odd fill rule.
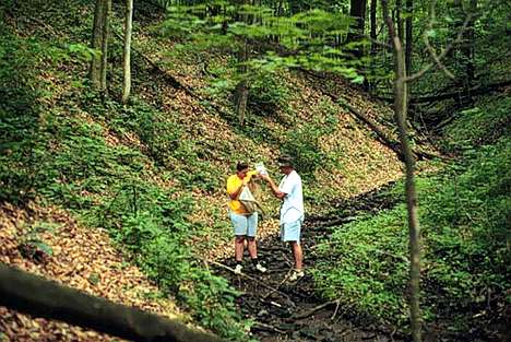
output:
[[192,231],[187,221],[193,209],[191,199],[176,198],[156,187],[140,190],[136,198],[132,190],[119,194],[96,215],[119,215],[107,222],[112,224],[110,231],[115,239],[130,251],[162,291],[176,294],[204,327],[231,340],[242,339],[246,327],[240,323],[234,306],[238,294],[225,279],[205,270],[191,253]]

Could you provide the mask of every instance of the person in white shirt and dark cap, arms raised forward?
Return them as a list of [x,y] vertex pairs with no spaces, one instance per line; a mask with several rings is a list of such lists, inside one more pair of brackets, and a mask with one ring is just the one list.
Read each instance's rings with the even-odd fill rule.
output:
[[301,224],[305,219],[304,212],[304,192],[301,188],[300,175],[293,166],[293,158],[281,156],[278,166],[284,177],[278,187],[268,175],[260,177],[266,180],[272,188],[273,194],[281,199],[281,238],[289,243],[295,259],[295,269],[289,276],[289,281],[296,281],[304,276],[304,251],[300,246]]

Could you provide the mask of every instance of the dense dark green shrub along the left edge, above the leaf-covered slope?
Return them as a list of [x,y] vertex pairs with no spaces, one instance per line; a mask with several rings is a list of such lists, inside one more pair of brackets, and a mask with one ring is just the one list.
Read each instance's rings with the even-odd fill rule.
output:
[[0,22],[0,201],[34,198],[43,181],[45,116],[40,103],[50,94],[38,68],[58,61],[66,51],[13,35]]

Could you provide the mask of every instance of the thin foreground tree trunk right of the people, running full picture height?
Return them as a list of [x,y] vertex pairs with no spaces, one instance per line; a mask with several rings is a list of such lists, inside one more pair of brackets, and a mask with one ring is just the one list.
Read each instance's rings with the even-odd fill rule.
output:
[[419,284],[420,284],[420,226],[417,213],[417,193],[415,190],[415,158],[412,152],[407,125],[407,86],[406,86],[406,66],[403,46],[397,36],[394,23],[389,16],[388,0],[382,0],[383,17],[389,28],[389,36],[392,38],[394,52],[394,114],[395,121],[400,133],[401,146],[405,157],[406,169],[406,207],[408,212],[408,229],[409,229],[409,314],[412,325],[412,338],[414,342],[421,341],[421,317],[419,308]]

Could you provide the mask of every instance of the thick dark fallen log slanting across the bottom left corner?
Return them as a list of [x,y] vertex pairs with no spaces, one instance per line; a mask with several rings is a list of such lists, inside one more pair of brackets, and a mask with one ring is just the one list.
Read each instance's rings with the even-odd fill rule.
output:
[[221,342],[221,339],[136,308],[115,304],[0,263],[0,305],[131,341]]

